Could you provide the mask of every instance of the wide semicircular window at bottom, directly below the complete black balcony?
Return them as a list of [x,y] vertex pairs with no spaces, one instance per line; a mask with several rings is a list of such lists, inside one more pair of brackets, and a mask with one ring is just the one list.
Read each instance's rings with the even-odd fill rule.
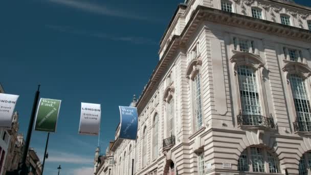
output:
[[266,148],[248,147],[238,160],[239,171],[280,173],[279,161]]

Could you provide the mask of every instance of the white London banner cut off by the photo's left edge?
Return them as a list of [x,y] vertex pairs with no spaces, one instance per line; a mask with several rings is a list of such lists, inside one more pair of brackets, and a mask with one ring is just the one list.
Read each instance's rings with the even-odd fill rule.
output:
[[0,128],[11,129],[18,95],[0,94]]

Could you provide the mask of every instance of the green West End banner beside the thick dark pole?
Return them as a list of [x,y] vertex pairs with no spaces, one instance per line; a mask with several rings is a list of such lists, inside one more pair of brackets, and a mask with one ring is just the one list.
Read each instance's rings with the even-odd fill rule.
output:
[[61,100],[41,98],[37,109],[35,130],[55,132]]

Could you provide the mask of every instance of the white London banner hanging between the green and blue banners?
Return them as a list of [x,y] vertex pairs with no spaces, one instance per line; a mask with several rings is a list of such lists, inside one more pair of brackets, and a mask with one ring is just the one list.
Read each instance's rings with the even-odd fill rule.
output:
[[99,134],[100,115],[100,104],[81,103],[79,134],[97,136]]

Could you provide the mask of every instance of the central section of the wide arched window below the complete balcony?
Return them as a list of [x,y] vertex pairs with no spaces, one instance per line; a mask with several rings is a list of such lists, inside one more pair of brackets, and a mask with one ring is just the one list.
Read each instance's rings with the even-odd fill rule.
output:
[[251,147],[251,159],[254,172],[264,172],[264,157],[261,148]]

